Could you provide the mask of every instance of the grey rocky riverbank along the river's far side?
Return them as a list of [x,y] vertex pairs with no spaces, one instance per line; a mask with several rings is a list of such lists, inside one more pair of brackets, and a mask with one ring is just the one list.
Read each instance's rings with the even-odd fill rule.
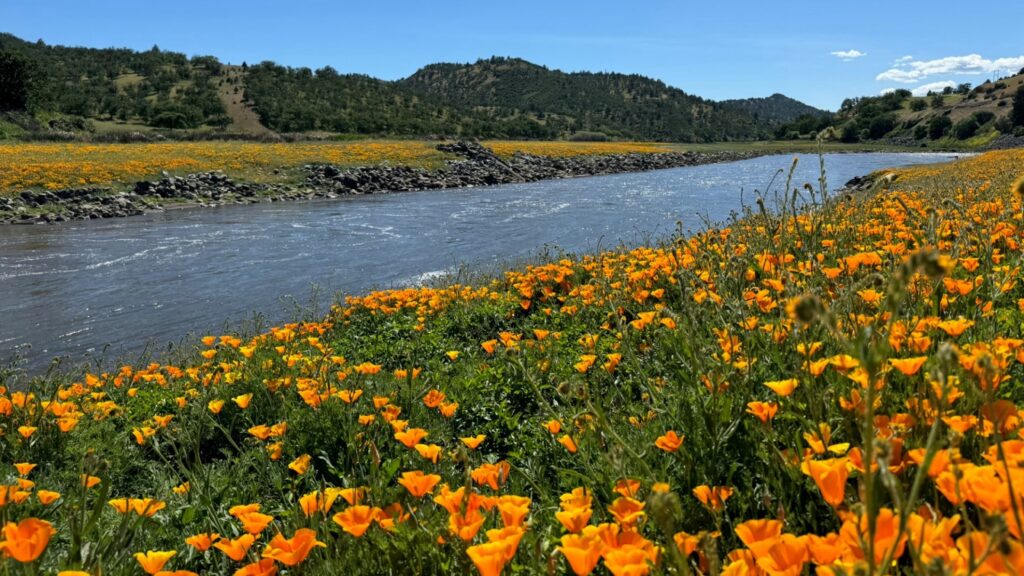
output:
[[741,152],[685,152],[562,158],[517,154],[502,159],[476,142],[442,143],[437,149],[459,159],[449,161],[436,170],[410,166],[339,168],[307,165],[303,167],[305,177],[299,184],[237,182],[219,172],[204,172],[186,176],[165,174],[157,180],[136,182],[129,190],[26,191],[11,197],[0,197],[0,223],[55,223],[133,216],[180,206],[221,206],[530,182],[732,162],[757,156],[756,153]]

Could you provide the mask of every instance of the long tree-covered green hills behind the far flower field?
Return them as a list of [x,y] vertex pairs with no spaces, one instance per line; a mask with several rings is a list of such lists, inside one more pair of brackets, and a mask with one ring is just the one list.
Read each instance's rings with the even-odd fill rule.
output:
[[721,141],[764,137],[795,115],[820,113],[781,94],[716,102],[639,75],[565,73],[507,57],[430,65],[384,81],[330,67],[229,66],[157,46],[50,46],[9,34],[0,34],[0,55],[31,72],[22,107],[4,112],[0,101],[0,137],[176,129],[170,135]]

